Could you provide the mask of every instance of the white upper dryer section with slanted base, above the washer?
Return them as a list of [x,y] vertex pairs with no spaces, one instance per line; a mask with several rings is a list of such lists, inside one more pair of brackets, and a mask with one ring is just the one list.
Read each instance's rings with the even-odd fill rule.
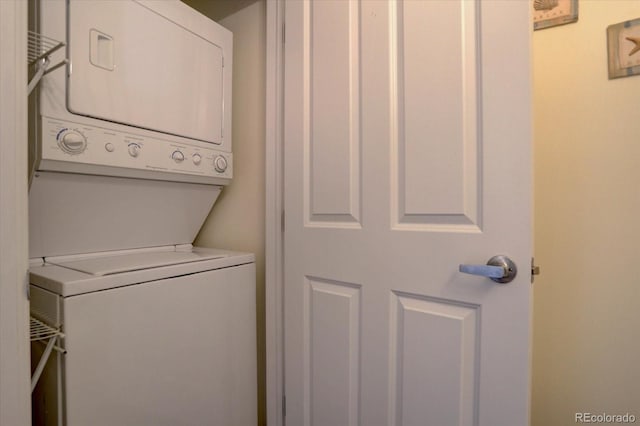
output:
[[178,0],[34,0],[29,255],[192,243],[233,176],[233,35]]

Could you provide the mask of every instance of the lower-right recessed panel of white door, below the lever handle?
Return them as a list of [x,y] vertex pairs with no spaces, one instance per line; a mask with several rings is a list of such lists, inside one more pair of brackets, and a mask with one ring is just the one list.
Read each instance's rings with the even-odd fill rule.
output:
[[[472,425],[479,306],[395,296],[390,327],[392,424]],[[443,376],[443,371],[450,374]]]

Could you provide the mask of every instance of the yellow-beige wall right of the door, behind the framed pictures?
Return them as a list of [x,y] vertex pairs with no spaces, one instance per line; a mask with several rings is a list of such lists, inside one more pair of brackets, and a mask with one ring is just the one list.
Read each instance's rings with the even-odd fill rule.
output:
[[640,422],[640,76],[608,80],[606,27],[640,1],[580,0],[533,35],[533,426]]

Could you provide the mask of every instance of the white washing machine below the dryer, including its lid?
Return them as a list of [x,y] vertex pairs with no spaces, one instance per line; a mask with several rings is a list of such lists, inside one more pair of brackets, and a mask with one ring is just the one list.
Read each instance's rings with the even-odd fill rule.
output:
[[64,256],[30,276],[32,315],[64,333],[34,424],[256,424],[252,254],[186,245]]

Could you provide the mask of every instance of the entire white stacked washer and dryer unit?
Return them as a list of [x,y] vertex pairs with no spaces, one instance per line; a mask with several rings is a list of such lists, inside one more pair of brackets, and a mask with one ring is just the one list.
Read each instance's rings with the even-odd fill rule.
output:
[[[179,1],[39,0],[34,424],[256,423],[254,256],[193,247],[232,178],[232,35]],[[33,345],[37,358],[42,348]]]

